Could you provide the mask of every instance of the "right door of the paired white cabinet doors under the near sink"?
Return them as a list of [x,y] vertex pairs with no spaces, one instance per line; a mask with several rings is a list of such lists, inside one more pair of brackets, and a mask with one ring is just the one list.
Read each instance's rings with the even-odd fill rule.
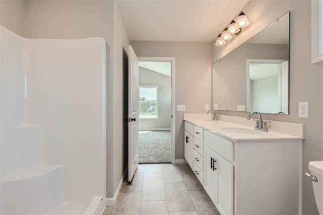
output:
[[233,214],[233,165],[216,154],[216,197],[215,202],[221,214]]

